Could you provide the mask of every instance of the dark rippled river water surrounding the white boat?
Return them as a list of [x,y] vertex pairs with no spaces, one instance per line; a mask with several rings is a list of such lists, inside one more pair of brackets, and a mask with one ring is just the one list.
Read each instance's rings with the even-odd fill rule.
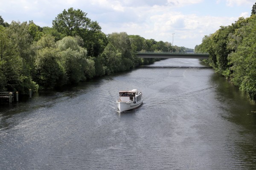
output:
[[[143,104],[119,113],[120,90]],[[253,170],[256,105],[198,59],[0,104],[1,170]]]

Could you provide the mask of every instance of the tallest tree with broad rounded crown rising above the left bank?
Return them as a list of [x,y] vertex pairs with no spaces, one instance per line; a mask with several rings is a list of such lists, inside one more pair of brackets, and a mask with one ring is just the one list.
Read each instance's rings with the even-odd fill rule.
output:
[[[101,27],[96,21],[91,21],[87,13],[80,9],[69,8],[55,17],[52,27],[67,36],[80,36],[84,40],[88,56],[98,56],[107,45],[106,35],[101,32]],[[103,47],[103,48],[102,48]]]

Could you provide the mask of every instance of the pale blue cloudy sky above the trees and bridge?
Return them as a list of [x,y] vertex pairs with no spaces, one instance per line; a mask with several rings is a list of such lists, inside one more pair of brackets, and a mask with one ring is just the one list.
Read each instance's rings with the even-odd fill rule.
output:
[[80,9],[105,34],[126,32],[145,39],[195,48],[205,35],[250,17],[256,0],[0,0],[5,22],[52,27],[64,9]]

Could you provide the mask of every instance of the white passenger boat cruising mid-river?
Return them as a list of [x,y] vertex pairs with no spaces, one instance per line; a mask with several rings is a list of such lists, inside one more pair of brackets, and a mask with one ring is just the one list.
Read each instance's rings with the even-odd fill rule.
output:
[[116,101],[120,112],[139,107],[143,102],[142,93],[133,89],[130,91],[119,91],[119,99]]

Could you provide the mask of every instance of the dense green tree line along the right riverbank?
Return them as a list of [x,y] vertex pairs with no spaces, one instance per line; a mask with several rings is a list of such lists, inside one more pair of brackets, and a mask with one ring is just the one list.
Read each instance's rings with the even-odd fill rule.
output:
[[209,65],[256,101],[256,3],[251,16],[204,36],[195,52],[208,52]]

